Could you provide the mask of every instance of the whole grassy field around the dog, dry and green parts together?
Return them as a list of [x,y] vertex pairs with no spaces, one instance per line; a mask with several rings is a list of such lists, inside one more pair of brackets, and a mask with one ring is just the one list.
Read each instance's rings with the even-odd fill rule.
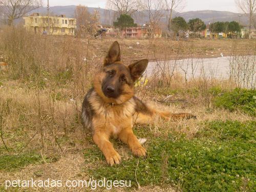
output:
[[[181,74],[159,72],[148,77],[147,84],[136,88],[138,97],[197,119],[135,125],[137,137],[147,139],[147,158],[134,157],[126,145],[112,140],[122,162],[106,164],[80,113],[83,96],[114,40],[125,64],[222,53],[237,58],[236,63],[243,62],[243,55],[254,55],[249,66],[255,66],[255,40],[78,39],[7,28],[0,33],[0,61],[8,63],[0,70],[0,190],[6,180],[49,178],[64,184],[106,178],[131,180],[131,187],[113,187],[115,191],[255,191],[256,91],[237,86],[237,78],[202,76],[185,82]],[[85,190],[37,186],[8,191],[36,189]]]

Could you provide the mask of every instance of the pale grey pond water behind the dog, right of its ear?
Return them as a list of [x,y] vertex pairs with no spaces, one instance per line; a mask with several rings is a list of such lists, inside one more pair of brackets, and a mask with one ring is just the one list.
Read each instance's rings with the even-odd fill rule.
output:
[[154,61],[148,63],[146,74],[151,76],[155,72],[158,72],[158,74],[163,72],[165,74],[172,74],[174,72],[181,74],[184,78],[186,76],[188,80],[199,77],[224,80],[229,78],[230,72],[243,71],[248,75],[248,72],[245,70],[249,70],[249,73],[252,73],[252,78],[255,79],[255,61],[255,55]]

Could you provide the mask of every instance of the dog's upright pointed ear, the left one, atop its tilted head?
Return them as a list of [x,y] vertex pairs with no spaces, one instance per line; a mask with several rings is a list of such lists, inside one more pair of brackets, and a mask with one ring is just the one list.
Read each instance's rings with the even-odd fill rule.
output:
[[113,44],[111,45],[108,54],[106,55],[104,61],[103,61],[103,65],[107,66],[110,65],[116,61],[120,61],[121,60],[121,56],[120,56],[120,46],[118,44],[117,41],[113,42]]

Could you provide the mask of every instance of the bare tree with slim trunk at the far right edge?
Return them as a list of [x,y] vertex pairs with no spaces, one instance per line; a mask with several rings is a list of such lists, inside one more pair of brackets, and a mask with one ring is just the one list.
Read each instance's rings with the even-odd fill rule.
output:
[[249,14],[249,38],[251,38],[251,25],[253,14],[256,11],[256,0],[236,0],[238,8],[245,14]]

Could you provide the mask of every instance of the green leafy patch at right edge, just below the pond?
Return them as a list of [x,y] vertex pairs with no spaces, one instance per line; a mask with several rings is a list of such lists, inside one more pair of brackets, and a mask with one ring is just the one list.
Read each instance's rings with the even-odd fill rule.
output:
[[256,116],[256,90],[234,89],[218,96],[214,100],[215,106],[229,111],[242,111]]

